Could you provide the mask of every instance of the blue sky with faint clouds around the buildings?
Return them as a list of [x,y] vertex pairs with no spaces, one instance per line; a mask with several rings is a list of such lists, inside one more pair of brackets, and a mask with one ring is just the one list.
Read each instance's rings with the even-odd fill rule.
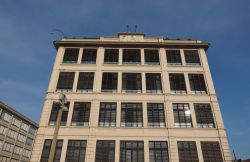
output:
[[249,0],[1,0],[0,101],[36,122],[60,29],[68,37],[116,35],[201,39],[207,51],[231,150],[250,158]]

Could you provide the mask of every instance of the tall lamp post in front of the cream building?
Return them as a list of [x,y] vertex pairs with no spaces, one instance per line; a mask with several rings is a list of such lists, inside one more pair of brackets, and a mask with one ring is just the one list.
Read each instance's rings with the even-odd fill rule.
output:
[[54,156],[55,156],[55,151],[56,151],[56,143],[57,143],[57,136],[58,136],[58,131],[60,128],[61,124],[61,119],[62,119],[62,113],[63,111],[68,111],[68,108],[66,107],[66,96],[63,93],[59,94],[59,102],[56,104],[59,107],[58,113],[57,113],[57,119],[56,119],[56,125],[55,125],[55,130],[53,134],[53,140],[50,148],[50,153],[49,153],[49,160],[48,162],[53,162],[54,161]]

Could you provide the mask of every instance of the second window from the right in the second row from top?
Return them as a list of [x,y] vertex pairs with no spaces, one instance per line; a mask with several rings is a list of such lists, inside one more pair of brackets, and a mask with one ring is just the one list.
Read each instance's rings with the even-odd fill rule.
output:
[[170,89],[172,94],[186,94],[184,74],[169,74]]

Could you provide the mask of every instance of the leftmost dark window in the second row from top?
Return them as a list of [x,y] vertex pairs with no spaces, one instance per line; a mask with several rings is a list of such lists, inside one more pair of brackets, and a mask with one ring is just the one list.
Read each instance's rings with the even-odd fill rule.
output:
[[60,72],[57,89],[71,91],[73,88],[74,77],[74,72]]

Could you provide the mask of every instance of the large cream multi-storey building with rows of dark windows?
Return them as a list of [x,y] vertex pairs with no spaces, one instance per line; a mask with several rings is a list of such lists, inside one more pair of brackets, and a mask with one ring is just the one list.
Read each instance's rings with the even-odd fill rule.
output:
[[56,162],[231,161],[209,44],[119,33],[54,45],[32,162],[49,157],[59,92]]

